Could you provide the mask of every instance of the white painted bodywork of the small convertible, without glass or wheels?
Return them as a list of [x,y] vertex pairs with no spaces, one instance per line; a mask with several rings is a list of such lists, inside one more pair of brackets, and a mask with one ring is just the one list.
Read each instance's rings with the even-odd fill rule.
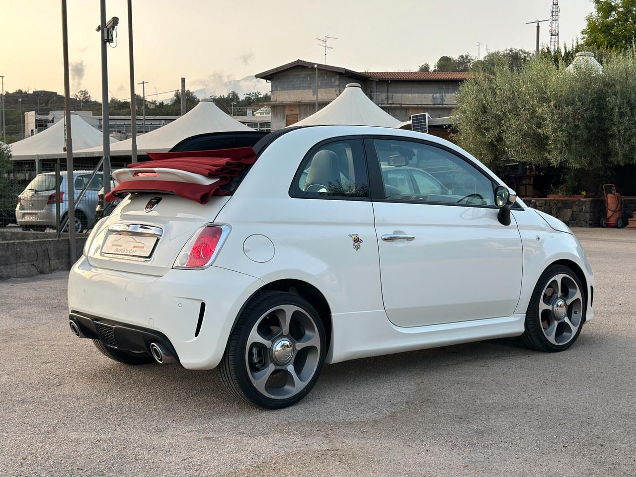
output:
[[[162,195],[151,212],[144,206],[152,195],[123,200],[99,223],[88,257],[71,270],[69,311],[156,329],[170,339],[185,368],[209,369],[221,360],[245,303],[278,280],[305,282],[324,296],[331,310],[331,363],[521,335],[537,279],[558,260],[582,270],[590,296],[593,275],[576,237],[557,232],[520,200],[511,225],[502,226],[497,211],[480,207],[290,197],[307,152],[320,141],[348,135],[443,144],[503,185],[472,156],[438,137],[356,126],[291,130],[261,153],[232,197],[201,205]],[[378,240],[384,233],[411,232],[415,221],[409,218],[416,216],[421,220],[413,242]],[[212,266],[173,269],[192,233],[211,222],[231,227]],[[163,228],[153,256],[148,261],[100,256],[99,246],[115,223]],[[353,234],[363,240],[357,250]],[[408,250],[413,254],[399,254]],[[426,275],[431,270],[437,275]],[[399,275],[403,289],[385,273]],[[207,310],[195,337],[201,301]],[[593,317],[589,300],[586,313],[588,320]]]

